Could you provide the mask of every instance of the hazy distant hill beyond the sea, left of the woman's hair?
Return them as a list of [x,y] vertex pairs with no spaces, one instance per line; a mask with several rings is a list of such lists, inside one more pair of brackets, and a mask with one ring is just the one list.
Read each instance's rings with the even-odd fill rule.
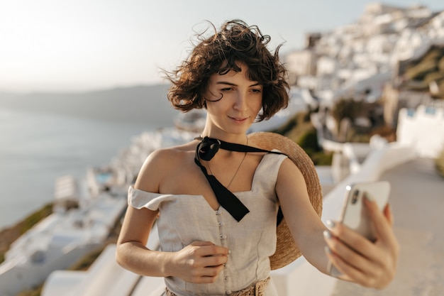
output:
[[172,126],[179,111],[167,101],[168,84],[120,87],[93,92],[0,92],[0,107],[104,121]]

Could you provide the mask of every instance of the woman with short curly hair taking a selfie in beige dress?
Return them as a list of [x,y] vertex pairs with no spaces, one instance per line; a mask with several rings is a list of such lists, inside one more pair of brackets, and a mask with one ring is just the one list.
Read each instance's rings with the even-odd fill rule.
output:
[[[172,105],[206,108],[206,125],[200,138],[147,158],[128,192],[116,252],[124,268],[165,277],[165,295],[277,295],[270,256],[279,206],[297,248],[321,272],[331,260],[341,278],[367,287],[394,277],[398,245],[388,207],[381,213],[365,203],[375,243],[340,223],[326,229],[295,163],[245,148],[260,147],[247,136],[251,124],[288,104],[286,70],[269,41],[255,26],[228,21],[169,75]],[[158,216],[162,251],[153,251],[145,245]]]

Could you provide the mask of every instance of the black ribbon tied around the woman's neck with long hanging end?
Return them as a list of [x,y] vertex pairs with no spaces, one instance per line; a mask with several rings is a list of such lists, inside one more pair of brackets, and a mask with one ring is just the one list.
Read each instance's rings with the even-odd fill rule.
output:
[[[194,156],[194,162],[196,165],[201,168],[201,171],[204,173],[206,180],[208,180],[211,189],[213,190],[214,194],[216,195],[216,199],[221,206],[227,210],[228,213],[233,216],[236,221],[240,221],[243,219],[243,217],[250,212],[250,210],[245,207],[245,204],[243,204],[238,197],[233,194],[230,190],[228,190],[225,186],[219,182],[216,177],[213,175],[209,175],[206,171],[206,168],[204,165],[201,164],[200,160],[206,160],[209,161],[211,158],[216,155],[219,148],[224,150],[230,150],[235,152],[265,152],[265,153],[275,153],[275,154],[284,154],[277,151],[269,151],[264,150],[260,148],[255,148],[252,146],[246,146],[242,144],[236,144],[236,143],[228,143],[225,141],[218,140],[216,138],[196,138],[196,140],[201,140],[201,143],[199,143],[196,147],[196,154]],[[281,216],[279,218],[279,216]],[[282,220],[283,215],[279,208],[278,213],[278,224],[280,220]]]

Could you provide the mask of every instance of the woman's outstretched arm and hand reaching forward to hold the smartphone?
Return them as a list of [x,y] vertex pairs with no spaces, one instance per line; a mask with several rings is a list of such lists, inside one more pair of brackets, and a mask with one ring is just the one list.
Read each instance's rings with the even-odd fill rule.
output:
[[376,203],[365,202],[377,233],[377,241],[372,243],[340,223],[333,223],[331,230],[326,230],[311,207],[304,177],[291,160],[282,163],[276,191],[296,245],[318,270],[327,273],[328,259],[331,259],[343,273],[344,280],[376,288],[392,281],[399,246],[389,208],[382,213]]

